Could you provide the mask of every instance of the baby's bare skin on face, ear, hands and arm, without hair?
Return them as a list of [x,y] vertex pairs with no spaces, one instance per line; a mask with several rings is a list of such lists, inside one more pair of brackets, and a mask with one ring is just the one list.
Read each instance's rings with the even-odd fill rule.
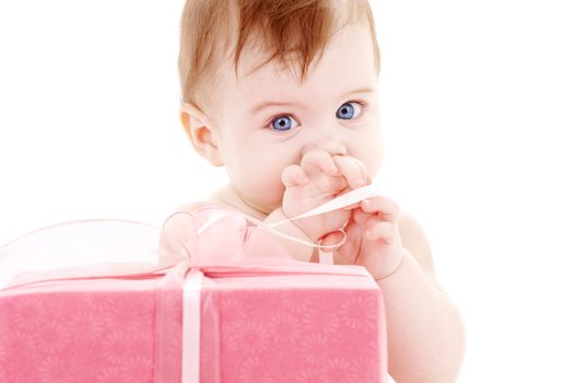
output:
[[[238,78],[231,60],[221,62],[212,111],[183,107],[194,149],[224,166],[230,183],[176,211],[215,204],[273,223],[378,175],[383,139],[368,28],[341,27],[305,82],[273,61],[258,67],[267,56],[257,47],[242,55]],[[455,382],[465,349],[460,315],[436,280],[423,230],[383,194],[276,229],[329,246],[341,242],[342,228],[345,242],[330,249],[335,263],[364,266],[384,293],[390,375],[397,383]],[[293,258],[316,260],[313,247],[277,241]]]

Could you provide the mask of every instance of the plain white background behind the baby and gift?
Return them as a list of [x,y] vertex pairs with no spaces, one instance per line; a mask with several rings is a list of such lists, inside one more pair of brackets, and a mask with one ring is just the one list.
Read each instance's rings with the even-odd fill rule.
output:
[[[570,1],[372,1],[386,188],[467,326],[459,382],[574,382]],[[0,2],[0,244],[161,225],[226,181],[178,123],[183,1]],[[570,365],[570,367],[569,367]]]

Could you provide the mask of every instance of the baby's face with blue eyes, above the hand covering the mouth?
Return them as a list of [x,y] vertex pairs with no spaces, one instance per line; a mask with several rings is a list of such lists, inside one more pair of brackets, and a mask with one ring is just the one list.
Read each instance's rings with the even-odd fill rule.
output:
[[281,207],[281,172],[314,148],[359,159],[374,178],[383,140],[367,27],[343,27],[303,84],[273,61],[246,77],[261,58],[243,51],[238,82],[231,62],[222,68],[216,137],[239,197],[263,213]]

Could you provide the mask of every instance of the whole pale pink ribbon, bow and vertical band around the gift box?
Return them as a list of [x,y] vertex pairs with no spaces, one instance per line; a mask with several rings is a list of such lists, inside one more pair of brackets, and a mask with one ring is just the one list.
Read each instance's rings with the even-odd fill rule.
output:
[[[156,361],[155,361],[155,382],[175,382],[174,361],[166,358],[165,350],[169,347],[169,338],[174,336],[174,328],[166,321],[167,294],[172,291],[183,293],[183,350],[181,350],[181,379],[183,383],[199,383],[200,381],[200,320],[201,320],[201,287],[203,277],[225,278],[237,276],[261,276],[261,275],[302,275],[302,274],[326,274],[341,276],[368,277],[368,272],[362,266],[342,266],[337,268],[321,264],[309,264],[292,259],[286,252],[276,244],[268,233],[285,236],[272,228],[293,221],[303,217],[311,217],[323,212],[336,210],[362,199],[376,195],[375,189],[370,186],[358,188],[331,201],[319,206],[304,214],[289,220],[267,225],[250,217],[244,217],[237,211],[230,209],[199,209],[192,214],[185,213],[183,223],[187,224],[186,237],[179,239],[166,232],[167,223],[172,222],[169,217],[163,229],[154,228],[141,222],[130,222],[122,220],[84,220],[72,221],[63,224],[48,227],[31,234],[16,239],[9,244],[0,247],[0,292],[27,285],[37,285],[50,281],[81,280],[94,278],[156,278],[161,277],[157,289],[157,311],[156,311]],[[179,217],[180,218],[180,217]],[[246,221],[250,221],[256,227],[247,228]],[[127,262],[106,262],[102,263],[102,255],[112,258],[115,255],[109,248],[92,257],[78,259],[80,253],[69,249],[71,230],[78,230],[81,225],[87,228],[87,232],[93,231],[94,225],[103,224],[102,228],[109,230],[108,236],[104,236],[106,244],[109,235],[125,233],[126,223],[131,228],[138,228],[141,232],[133,229],[134,240],[149,239],[150,230],[160,231],[161,246],[155,249],[155,255],[160,255],[160,263],[143,262],[141,254],[145,252],[134,252],[134,255],[122,253],[120,259]],[[181,224],[181,221],[179,222]],[[118,229],[122,229],[119,230]],[[62,231],[63,230],[63,231]],[[85,231],[85,230],[84,230]],[[60,235],[63,234],[68,235]],[[142,234],[145,232],[145,234]],[[42,236],[44,234],[44,236]],[[90,233],[92,234],[92,233]],[[129,234],[129,233],[128,233]],[[63,253],[68,255],[59,267],[47,270],[22,270],[16,266],[25,264],[23,259],[27,254],[36,254],[38,249],[50,248],[47,242],[55,241],[57,245],[67,248]],[[289,237],[289,236],[288,236]],[[301,242],[297,239],[291,240]],[[344,241],[344,240],[343,240]],[[112,242],[112,241],[109,241]],[[309,246],[320,247],[313,243]],[[51,243],[54,245],[54,243]],[[86,243],[82,243],[86,248]],[[68,247],[66,247],[68,246]],[[119,245],[118,245],[119,246]],[[124,244],[125,246],[125,244]],[[56,246],[57,247],[57,246]],[[68,252],[68,253],[67,253]],[[151,253],[154,253],[151,252]],[[269,253],[274,257],[269,257]],[[190,254],[194,254],[191,257]],[[118,258],[116,256],[114,259]],[[99,262],[97,262],[99,259]],[[12,263],[11,263],[12,262]],[[14,266],[15,265],[15,266]],[[12,275],[11,275],[12,271]],[[14,277],[15,276],[15,277]]]

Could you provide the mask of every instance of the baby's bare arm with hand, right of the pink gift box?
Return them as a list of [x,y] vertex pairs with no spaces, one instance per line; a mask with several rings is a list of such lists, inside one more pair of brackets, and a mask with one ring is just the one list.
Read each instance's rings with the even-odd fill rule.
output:
[[[431,254],[422,229],[408,219],[411,223],[403,221],[402,228],[409,231],[399,232],[399,217],[391,199],[365,199],[353,208],[344,228],[347,241],[333,255],[364,266],[383,291],[393,378],[398,383],[454,383],[465,350],[462,321],[429,274]],[[323,243],[337,243],[330,236]],[[412,254],[402,246],[403,239]]]

